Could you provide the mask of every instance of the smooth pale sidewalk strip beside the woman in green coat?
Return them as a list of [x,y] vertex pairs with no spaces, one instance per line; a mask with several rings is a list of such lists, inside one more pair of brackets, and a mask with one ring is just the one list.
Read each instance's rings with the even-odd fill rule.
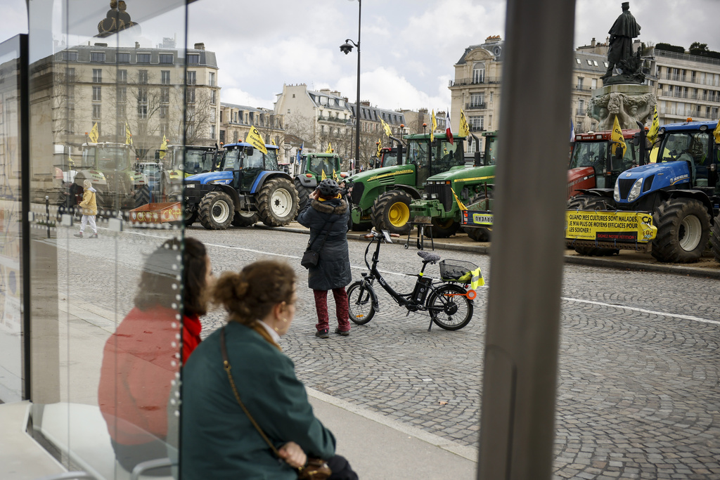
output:
[[350,402],[307,389],[315,415],[333,431],[338,454],[361,479],[474,479],[477,449],[458,445]]

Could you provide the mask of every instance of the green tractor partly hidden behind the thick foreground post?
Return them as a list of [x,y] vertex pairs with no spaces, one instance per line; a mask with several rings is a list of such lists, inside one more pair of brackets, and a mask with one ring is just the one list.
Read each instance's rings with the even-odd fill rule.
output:
[[[485,155],[475,155],[474,166],[456,166],[449,171],[428,177],[421,199],[410,204],[410,217],[432,224],[436,238],[455,235],[462,225],[463,206],[477,204],[492,197],[495,181],[497,132],[485,132]],[[477,137],[476,137],[476,140]],[[479,143],[479,141],[478,141]],[[469,232],[469,235],[474,232]]]

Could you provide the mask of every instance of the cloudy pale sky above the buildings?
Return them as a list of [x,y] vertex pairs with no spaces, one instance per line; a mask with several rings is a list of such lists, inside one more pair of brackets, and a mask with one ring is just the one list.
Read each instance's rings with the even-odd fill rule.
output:
[[[126,1],[132,14],[140,0]],[[55,0],[58,17],[60,4]],[[577,0],[573,46],[593,37],[604,42],[620,4]],[[339,46],[358,40],[358,7],[358,0],[198,0],[188,7],[187,43],[204,42],[216,53],[223,102],[272,108],[283,83],[329,88],[355,101],[357,53],[344,55]],[[0,0],[0,9],[0,40],[27,32],[24,0]],[[643,42],[688,48],[697,41],[720,51],[719,0],[631,0],[630,11]],[[88,17],[96,24],[96,15]],[[160,37],[184,40],[181,9],[140,24],[147,46]],[[504,1],[362,0],[361,100],[383,109],[448,109],[454,63],[490,35],[505,37]]]

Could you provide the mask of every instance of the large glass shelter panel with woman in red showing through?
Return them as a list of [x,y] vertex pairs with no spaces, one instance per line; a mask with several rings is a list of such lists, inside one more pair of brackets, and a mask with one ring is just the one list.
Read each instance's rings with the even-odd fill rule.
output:
[[32,425],[68,469],[127,479],[178,443],[184,232],[160,153],[185,142],[186,6],[108,4],[30,2]]

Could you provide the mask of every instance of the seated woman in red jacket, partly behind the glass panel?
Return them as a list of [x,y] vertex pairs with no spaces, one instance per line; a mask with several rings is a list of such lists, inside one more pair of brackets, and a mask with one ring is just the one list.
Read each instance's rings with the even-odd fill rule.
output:
[[200,343],[211,281],[199,240],[167,240],[145,261],[135,307],[105,343],[98,402],[115,457],[127,471],[167,456],[168,397],[180,361]]

